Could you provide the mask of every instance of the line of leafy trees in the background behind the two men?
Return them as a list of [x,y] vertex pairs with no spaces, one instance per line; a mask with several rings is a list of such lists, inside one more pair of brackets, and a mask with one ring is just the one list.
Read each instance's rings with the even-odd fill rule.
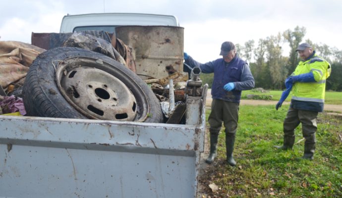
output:
[[[306,34],[305,27],[295,27],[294,30],[285,30],[276,36],[260,39],[257,44],[249,40],[244,45],[236,44],[239,56],[249,63],[255,79],[255,87],[264,89],[285,89],[285,79],[294,71],[300,61],[298,45],[305,42],[310,44],[316,54],[325,58],[332,67],[332,73],[326,81],[326,89],[342,91],[342,51],[329,47],[326,44],[313,43],[311,40],[303,41]],[[289,54],[283,55],[283,44],[288,44]],[[202,74],[204,83],[211,87],[213,74]]]

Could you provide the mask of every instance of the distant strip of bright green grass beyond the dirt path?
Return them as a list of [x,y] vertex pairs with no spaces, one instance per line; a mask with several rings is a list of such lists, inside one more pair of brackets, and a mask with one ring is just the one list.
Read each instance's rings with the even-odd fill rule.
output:
[[[253,90],[243,91],[242,92],[242,99],[247,99],[247,95],[253,94],[253,95],[271,95],[272,100],[279,100],[282,96],[283,91],[269,91],[268,93],[260,93],[260,92],[253,92]],[[285,101],[291,100],[291,94],[287,97]],[[342,92],[330,92],[327,91],[325,93],[325,103],[326,104],[342,104]]]

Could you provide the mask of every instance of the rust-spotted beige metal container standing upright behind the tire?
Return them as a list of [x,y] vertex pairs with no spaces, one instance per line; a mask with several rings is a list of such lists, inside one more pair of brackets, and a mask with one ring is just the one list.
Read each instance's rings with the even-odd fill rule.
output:
[[116,38],[132,47],[136,73],[142,79],[183,72],[184,28],[175,26],[119,26]]

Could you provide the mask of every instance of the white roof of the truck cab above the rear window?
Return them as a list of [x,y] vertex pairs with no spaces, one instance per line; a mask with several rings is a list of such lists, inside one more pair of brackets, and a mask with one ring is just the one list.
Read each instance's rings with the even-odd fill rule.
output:
[[97,27],[108,28],[113,32],[116,26],[122,25],[163,25],[179,26],[178,20],[172,15],[143,13],[91,13],[65,15],[60,25],[60,33],[78,30],[97,30]]

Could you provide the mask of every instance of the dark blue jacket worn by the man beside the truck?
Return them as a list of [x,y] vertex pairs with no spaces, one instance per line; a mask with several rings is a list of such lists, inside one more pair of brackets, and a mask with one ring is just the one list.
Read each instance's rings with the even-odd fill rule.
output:
[[[207,62],[205,64],[195,61],[191,56],[185,61],[190,67],[200,67],[203,73],[214,73],[214,81],[211,90],[213,99],[222,99],[231,102],[240,102],[241,91],[254,87],[254,78],[248,64],[241,58],[235,57],[227,63],[223,58]],[[235,89],[228,92],[223,87],[234,82]]]

